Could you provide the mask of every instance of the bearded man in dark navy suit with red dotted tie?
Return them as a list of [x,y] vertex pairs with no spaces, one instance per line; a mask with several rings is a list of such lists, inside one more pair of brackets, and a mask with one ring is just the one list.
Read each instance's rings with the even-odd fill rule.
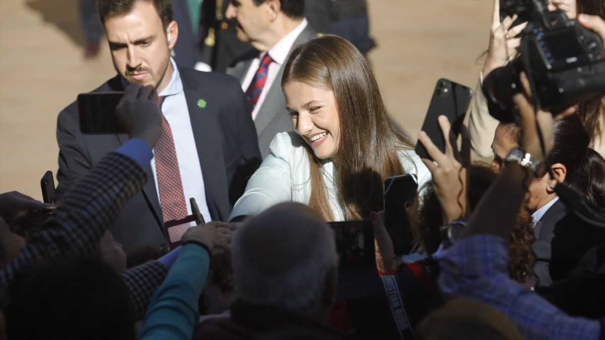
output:
[[[170,0],[97,0],[97,8],[119,75],[93,92],[123,91],[128,83],[152,85],[162,97],[163,112],[162,139],[146,168],[154,180],[125,204],[111,232],[126,250],[145,244],[167,250],[163,224],[191,214],[189,198],[195,198],[206,221],[226,220],[246,188],[260,162],[250,108],[236,79],[176,67],[170,50],[178,25]],[[83,135],[78,120],[76,103],[57,120],[59,200],[128,139]]]

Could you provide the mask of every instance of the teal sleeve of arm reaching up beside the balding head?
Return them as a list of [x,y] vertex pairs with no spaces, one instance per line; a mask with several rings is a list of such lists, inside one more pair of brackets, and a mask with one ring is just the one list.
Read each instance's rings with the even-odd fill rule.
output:
[[206,249],[197,244],[183,246],[166,280],[151,298],[140,339],[191,340],[209,266]]

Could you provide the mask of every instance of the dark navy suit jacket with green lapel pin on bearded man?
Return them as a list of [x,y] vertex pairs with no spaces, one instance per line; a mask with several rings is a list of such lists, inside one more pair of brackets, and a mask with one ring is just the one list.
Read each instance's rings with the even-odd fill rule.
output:
[[[179,68],[179,72],[200,158],[206,203],[212,220],[226,221],[248,178],[260,164],[250,108],[233,77],[184,68]],[[123,91],[120,77],[110,79],[93,92],[102,91]],[[208,105],[198,107],[198,99],[205,99]],[[59,200],[103,155],[126,140],[125,134],[81,134],[76,102],[61,111],[57,120]],[[153,178],[151,166],[146,172],[148,178]],[[155,183],[149,180],[143,191],[125,204],[110,230],[126,250],[144,244],[165,249],[162,221]]]

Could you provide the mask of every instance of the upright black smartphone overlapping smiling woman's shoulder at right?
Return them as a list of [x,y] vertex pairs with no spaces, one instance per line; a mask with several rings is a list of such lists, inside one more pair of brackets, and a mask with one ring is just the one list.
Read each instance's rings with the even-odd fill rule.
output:
[[418,180],[414,174],[388,177],[384,181],[384,225],[395,255],[406,255],[413,249],[408,209],[413,206],[417,192]]

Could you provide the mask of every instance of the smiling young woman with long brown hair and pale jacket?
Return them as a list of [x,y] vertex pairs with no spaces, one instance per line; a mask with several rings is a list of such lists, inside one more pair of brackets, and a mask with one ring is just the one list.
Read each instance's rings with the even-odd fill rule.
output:
[[345,39],[296,48],[281,85],[294,131],[275,136],[230,220],[283,201],[308,204],[328,221],[368,218],[383,209],[385,178],[430,178],[391,123],[367,60]]

